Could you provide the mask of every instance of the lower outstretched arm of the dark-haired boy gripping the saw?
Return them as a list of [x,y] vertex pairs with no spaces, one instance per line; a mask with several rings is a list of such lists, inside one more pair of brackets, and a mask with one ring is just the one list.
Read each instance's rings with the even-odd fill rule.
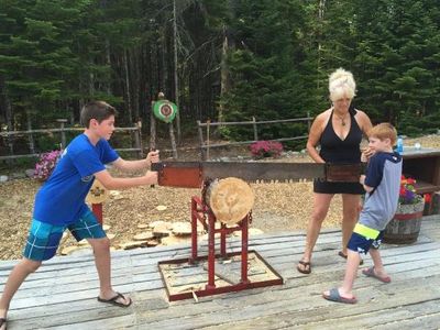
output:
[[95,173],[95,177],[109,190],[157,184],[157,172],[150,170],[139,177],[112,177],[107,169],[103,169]]

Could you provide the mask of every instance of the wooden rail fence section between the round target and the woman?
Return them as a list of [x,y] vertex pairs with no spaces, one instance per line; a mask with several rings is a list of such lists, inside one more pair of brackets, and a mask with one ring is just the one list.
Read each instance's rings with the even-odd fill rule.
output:
[[[307,130],[310,131],[311,121],[314,120],[309,113],[305,118],[294,118],[294,119],[280,119],[280,120],[263,120],[256,121],[255,117],[252,118],[252,121],[237,121],[237,122],[200,122],[197,121],[198,134],[199,134],[199,148],[200,148],[200,157],[201,160],[209,160],[209,150],[211,147],[221,147],[221,146],[230,146],[230,145],[242,145],[242,144],[252,144],[258,141],[258,130],[257,125],[263,124],[275,124],[275,123],[287,123],[287,122],[307,122]],[[228,127],[228,125],[252,125],[253,127],[253,135],[254,140],[252,141],[235,141],[235,142],[227,142],[227,143],[210,143],[210,129],[212,127]],[[204,129],[206,129],[206,139],[204,138]],[[271,139],[270,141],[295,141],[307,139],[308,135],[301,136],[292,136],[292,138],[279,138],[279,139]]]

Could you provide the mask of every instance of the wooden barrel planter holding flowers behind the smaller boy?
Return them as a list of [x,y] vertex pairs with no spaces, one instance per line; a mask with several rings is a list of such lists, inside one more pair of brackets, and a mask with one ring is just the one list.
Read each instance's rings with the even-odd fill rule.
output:
[[385,228],[385,243],[410,244],[417,241],[420,232],[425,202],[399,205],[394,218]]

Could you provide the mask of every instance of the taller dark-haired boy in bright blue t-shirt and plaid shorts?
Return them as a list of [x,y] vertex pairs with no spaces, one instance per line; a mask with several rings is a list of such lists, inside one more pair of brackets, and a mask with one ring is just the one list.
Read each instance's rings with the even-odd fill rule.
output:
[[[100,282],[98,300],[121,307],[131,305],[131,298],[113,290],[110,276],[110,241],[101,224],[89,210],[85,198],[94,179],[107,189],[123,189],[157,184],[157,172],[140,177],[112,177],[105,164],[123,172],[146,169],[158,162],[158,152],[150,152],[145,160],[124,161],[108,140],[114,131],[117,111],[102,101],[94,101],[81,109],[86,127],[65,148],[62,158],[47,182],[35,196],[31,229],[22,261],[13,268],[0,300],[0,329],[6,328],[10,301],[20,285],[35,272],[42,261],[56,253],[63,232],[68,229],[77,241],[87,239],[94,249]],[[4,327],[3,327],[4,326]]]

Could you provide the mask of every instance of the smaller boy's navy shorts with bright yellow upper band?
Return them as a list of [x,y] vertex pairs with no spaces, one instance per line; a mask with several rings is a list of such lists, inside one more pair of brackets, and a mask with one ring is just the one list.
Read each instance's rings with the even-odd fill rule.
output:
[[[365,230],[366,229],[366,230]],[[370,248],[378,249],[384,238],[384,231],[370,229],[362,224],[354,227],[346,248],[351,251],[366,254]]]

